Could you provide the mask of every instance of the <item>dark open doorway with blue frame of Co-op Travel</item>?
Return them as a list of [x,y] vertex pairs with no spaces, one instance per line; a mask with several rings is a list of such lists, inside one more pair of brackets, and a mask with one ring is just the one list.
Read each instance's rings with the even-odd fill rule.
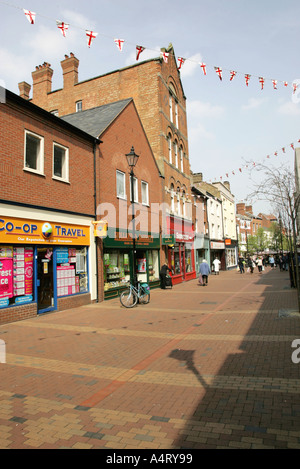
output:
[[38,312],[54,309],[53,248],[37,249]]

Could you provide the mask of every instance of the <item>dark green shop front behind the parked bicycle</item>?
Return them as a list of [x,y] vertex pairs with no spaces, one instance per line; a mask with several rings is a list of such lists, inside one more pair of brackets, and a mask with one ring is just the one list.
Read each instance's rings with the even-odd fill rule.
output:
[[160,285],[160,238],[148,233],[139,233],[135,241],[135,267],[133,268],[133,240],[127,230],[108,228],[103,239],[104,299],[120,295],[129,283],[133,283],[133,274],[140,282],[146,282],[150,288]]

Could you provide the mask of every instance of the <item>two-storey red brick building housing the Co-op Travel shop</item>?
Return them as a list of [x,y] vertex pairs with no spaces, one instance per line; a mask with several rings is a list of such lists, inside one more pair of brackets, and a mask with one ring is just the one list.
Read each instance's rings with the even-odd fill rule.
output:
[[0,126],[0,323],[90,303],[99,141],[9,91]]

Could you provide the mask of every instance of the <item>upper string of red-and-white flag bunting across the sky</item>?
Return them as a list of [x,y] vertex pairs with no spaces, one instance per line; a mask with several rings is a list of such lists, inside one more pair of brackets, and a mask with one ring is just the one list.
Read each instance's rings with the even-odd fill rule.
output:
[[[57,28],[61,31],[62,35],[64,37],[67,37],[67,33],[69,31],[70,28],[76,28],[76,29],[80,29],[84,32],[85,36],[86,36],[86,40],[87,40],[87,46],[90,48],[93,44],[93,41],[98,37],[98,36],[102,36],[102,37],[109,37],[110,39],[112,39],[115,44],[117,45],[117,48],[119,49],[120,52],[123,51],[123,47],[124,45],[130,45],[130,46],[134,46],[135,47],[135,53],[136,53],[136,60],[139,60],[140,59],[140,56],[142,54],[142,52],[144,50],[150,50],[150,51],[153,51],[153,52],[157,52],[161,57],[162,59],[164,60],[164,62],[168,62],[170,56],[173,56],[176,60],[176,57],[174,55],[172,55],[170,52],[166,52],[165,50],[160,50],[160,51],[157,51],[155,49],[151,49],[151,48],[148,48],[146,46],[142,46],[142,45],[133,45],[132,43],[130,42],[127,42],[125,41],[125,39],[119,39],[119,38],[111,38],[110,36],[107,36],[105,34],[102,34],[102,33],[98,33],[94,30],[91,30],[91,29],[87,29],[87,28],[81,28],[81,27],[78,27],[78,26],[75,26],[75,25],[72,25],[70,23],[67,23],[65,21],[62,21],[62,20],[54,20],[53,18],[49,18],[45,15],[41,15],[39,13],[35,13],[33,11],[30,11],[30,10],[27,10],[27,9],[24,9],[22,7],[19,7],[17,5],[13,5],[11,3],[7,3],[5,1],[2,1],[0,0],[0,4],[2,5],[6,5],[6,6],[9,6],[9,7],[12,7],[12,8],[15,8],[15,9],[18,9],[18,10],[21,10],[23,11],[25,17],[28,19],[29,23],[31,25],[35,25],[36,24],[36,19],[37,18],[46,18],[50,21],[53,21],[54,23],[56,23],[57,25]],[[199,67],[201,68],[204,76],[207,76],[207,68],[208,67],[211,67],[210,65],[204,63],[204,62],[197,62],[191,58],[184,58],[184,57],[178,57],[177,58],[177,63],[178,63],[178,71],[180,71],[183,67],[184,67],[184,64],[186,62],[193,62],[193,63],[196,63],[199,65]],[[244,73],[244,72],[238,72],[236,70],[233,70],[233,69],[224,69],[223,67],[220,67],[220,66],[213,66],[212,69],[215,70],[215,73],[217,74],[217,76],[219,77],[220,81],[223,81],[224,80],[224,71],[225,72],[228,72],[229,73],[229,80],[230,81],[233,81],[233,79],[237,76],[237,75],[242,75],[244,76],[244,79],[245,79],[245,84],[246,86],[248,87],[249,86],[249,83],[250,83],[250,80],[253,81],[253,78],[256,78],[260,84],[260,87],[261,87],[261,90],[265,89],[265,84],[266,84],[266,81],[270,81],[272,83],[272,87],[274,90],[278,90],[278,85],[279,84],[282,84],[285,88],[287,87],[291,87],[292,88],[292,92],[293,94],[296,93],[297,91],[297,88],[298,86],[300,85],[299,83],[295,83],[295,82],[289,82],[289,81],[282,81],[282,80],[277,80],[277,79],[273,79],[273,78],[265,78],[263,77],[262,75],[259,75],[259,76],[256,76],[256,75],[253,75],[253,74],[249,74],[249,73]]]

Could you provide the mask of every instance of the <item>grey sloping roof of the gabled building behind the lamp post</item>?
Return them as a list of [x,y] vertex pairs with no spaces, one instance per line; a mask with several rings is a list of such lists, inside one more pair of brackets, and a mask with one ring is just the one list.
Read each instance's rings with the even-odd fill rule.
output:
[[123,99],[86,111],[68,114],[62,116],[61,119],[98,138],[131,101],[133,101],[132,98]]

